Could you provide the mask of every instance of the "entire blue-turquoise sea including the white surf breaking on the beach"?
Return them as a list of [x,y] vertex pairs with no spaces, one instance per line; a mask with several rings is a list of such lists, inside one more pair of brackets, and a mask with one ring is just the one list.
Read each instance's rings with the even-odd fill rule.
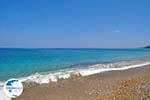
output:
[[150,49],[0,48],[0,100],[6,80],[46,84],[73,75],[87,76],[150,64]]

